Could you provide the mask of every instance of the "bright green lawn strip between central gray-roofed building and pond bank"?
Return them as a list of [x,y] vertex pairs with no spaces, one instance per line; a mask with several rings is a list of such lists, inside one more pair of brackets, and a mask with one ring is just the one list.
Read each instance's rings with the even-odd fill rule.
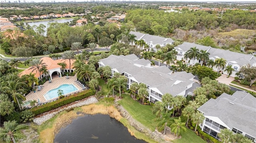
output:
[[154,121],[156,116],[152,114],[152,106],[142,105],[127,94],[122,94],[122,100],[118,101],[118,103],[131,114],[132,118],[148,127],[151,131],[156,129]]

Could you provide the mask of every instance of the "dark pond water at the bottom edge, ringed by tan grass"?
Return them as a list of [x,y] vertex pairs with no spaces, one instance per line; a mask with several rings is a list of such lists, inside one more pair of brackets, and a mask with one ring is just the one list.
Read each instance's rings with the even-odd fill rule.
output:
[[130,135],[122,123],[108,115],[85,115],[60,129],[54,143],[146,143]]

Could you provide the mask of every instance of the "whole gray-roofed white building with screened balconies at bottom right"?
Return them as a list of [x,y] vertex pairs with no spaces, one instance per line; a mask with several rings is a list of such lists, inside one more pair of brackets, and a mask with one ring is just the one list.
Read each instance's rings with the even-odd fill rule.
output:
[[197,110],[205,116],[200,125],[202,131],[216,139],[221,129],[228,128],[256,142],[256,98],[251,94],[244,91],[236,91],[232,96],[223,93]]

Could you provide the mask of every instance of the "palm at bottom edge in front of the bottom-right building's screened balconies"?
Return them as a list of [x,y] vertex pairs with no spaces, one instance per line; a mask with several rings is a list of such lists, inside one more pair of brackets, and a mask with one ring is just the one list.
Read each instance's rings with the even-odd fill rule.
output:
[[235,135],[233,131],[229,130],[228,128],[221,129],[218,135],[220,136],[222,143],[234,143],[235,141]]

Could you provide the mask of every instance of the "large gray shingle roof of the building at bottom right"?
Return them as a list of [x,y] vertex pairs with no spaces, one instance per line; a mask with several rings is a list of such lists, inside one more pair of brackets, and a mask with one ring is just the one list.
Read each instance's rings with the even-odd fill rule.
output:
[[204,116],[219,118],[230,129],[235,127],[256,137],[256,98],[240,91],[233,95],[223,93],[215,100],[208,100],[198,110],[204,112]]

